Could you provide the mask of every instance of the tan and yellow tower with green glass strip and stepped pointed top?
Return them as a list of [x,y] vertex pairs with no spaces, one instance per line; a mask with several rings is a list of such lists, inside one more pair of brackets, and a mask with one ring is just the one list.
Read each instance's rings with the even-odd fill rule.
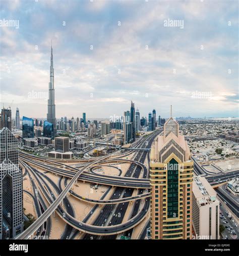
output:
[[193,161],[178,123],[170,117],[151,147],[151,238],[191,239]]

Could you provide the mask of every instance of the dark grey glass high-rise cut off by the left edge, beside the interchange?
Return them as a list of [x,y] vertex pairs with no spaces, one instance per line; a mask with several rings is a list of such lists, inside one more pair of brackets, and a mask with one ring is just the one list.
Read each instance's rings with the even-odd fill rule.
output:
[[0,131],[0,239],[23,232],[23,180],[18,164],[18,140],[4,127]]

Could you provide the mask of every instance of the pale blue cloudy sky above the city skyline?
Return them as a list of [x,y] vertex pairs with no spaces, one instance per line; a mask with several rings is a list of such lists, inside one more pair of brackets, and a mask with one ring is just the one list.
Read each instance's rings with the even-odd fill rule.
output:
[[238,116],[238,1],[0,5],[1,104],[14,116],[46,117],[51,39],[57,118],[123,115],[131,100],[141,116]]

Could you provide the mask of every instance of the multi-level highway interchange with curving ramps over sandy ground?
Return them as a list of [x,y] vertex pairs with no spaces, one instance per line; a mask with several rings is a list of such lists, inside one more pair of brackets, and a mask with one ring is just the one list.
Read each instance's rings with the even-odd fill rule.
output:
[[[103,157],[78,159],[78,161],[72,160],[67,163],[58,161],[58,159],[48,159],[20,152],[20,164],[25,170],[24,176],[28,175],[31,179],[34,195],[25,192],[34,200],[38,219],[17,239],[28,239],[33,234],[49,236],[53,212],[66,222],[61,239],[74,239],[80,233],[82,234],[81,239],[116,239],[119,234],[132,237],[134,228],[146,218],[150,206],[149,170],[148,166],[144,165],[145,160],[149,161],[150,151],[146,149],[150,149],[154,138],[161,132],[162,130],[157,130],[148,137],[142,137],[136,141],[133,147],[139,150],[115,149],[114,152]],[[127,156],[132,158],[128,159]],[[238,171],[233,174],[227,173],[213,177],[205,175],[202,167],[194,158],[193,160],[195,162],[194,173],[205,176],[213,186],[239,175]],[[118,163],[130,163],[124,176],[122,176],[122,170],[114,166],[117,166]],[[95,172],[95,168],[105,165],[117,168],[118,176]],[[47,177],[48,172],[59,176],[58,184]],[[85,198],[72,190],[78,180],[107,185],[108,189],[98,200]],[[36,191],[38,191],[37,194]],[[105,199],[108,193],[111,193],[111,196]],[[69,195],[78,200],[87,201],[91,205],[91,209],[81,222],[75,218],[74,207],[68,198]],[[228,205],[233,204],[230,201],[226,202]],[[126,220],[125,216],[129,207],[130,214]],[[95,216],[94,221],[89,224],[88,221],[93,215]],[[149,221],[147,220],[139,239],[144,239],[148,227]]]

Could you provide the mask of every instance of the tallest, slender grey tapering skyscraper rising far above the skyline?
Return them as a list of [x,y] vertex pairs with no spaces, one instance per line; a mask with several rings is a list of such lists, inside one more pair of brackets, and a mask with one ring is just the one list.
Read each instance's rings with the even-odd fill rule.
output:
[[55,90],[54,90],[54,68],[53,68],[52,45],[51,45],[51,55],[50,55],[50,82],[49,82],[47,121],[53,124],[53,137],[55,137],[56,119],[55,119]]

